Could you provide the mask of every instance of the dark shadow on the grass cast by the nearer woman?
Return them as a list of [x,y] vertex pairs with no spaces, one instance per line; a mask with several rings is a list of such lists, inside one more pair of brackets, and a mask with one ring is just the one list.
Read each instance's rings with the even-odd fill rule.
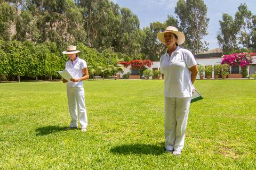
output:
[[129,155],[129,154],[144,154],[144,155],[161,155],[165,152],[164,142],[158,145],[146,145],[146,144],[133,144],[122,145],[110,149],[114,154]]

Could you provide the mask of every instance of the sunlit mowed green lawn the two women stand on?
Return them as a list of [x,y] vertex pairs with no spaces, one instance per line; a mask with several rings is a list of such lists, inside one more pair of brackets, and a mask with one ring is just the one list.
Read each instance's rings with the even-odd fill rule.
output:
[[0,84],[0,169],[255,169],[256,81],[197,80],[185,148],[165,153],[163,80],[85,81],[87,132],[65,131],[66,84]]

